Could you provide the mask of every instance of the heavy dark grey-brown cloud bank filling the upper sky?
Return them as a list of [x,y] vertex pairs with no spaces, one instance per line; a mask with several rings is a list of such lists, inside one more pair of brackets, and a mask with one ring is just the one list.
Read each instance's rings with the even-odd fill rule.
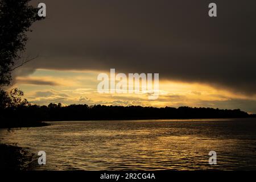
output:
[[44,1],[34,24],[30,68],[160,73],[256,94],[256,1]]

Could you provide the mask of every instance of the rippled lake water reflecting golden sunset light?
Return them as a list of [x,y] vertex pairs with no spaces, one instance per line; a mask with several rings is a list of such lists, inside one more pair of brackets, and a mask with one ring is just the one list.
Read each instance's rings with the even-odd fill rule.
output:
[[50,123],[1,130],[1,142],[46,151],[35,169],[256,169],[256,118]]

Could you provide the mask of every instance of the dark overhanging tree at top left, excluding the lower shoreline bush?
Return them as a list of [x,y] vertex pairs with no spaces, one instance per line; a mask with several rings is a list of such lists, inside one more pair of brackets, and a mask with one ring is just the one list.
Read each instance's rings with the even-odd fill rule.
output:
[[0,87],[10,85],[11,72],[26,63],[22,56],[27,31],[40,18],[38,8],[28,5],[30,0],[0,0]]

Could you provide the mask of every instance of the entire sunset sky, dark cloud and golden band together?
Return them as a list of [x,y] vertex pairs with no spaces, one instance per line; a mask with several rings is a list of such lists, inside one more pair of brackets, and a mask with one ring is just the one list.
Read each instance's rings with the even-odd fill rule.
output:
[[[42,1],[46,19],[28,32],[13,73],[34,104],[196,106],[256,113],[254,0]],[[32,1],[32,5],[39,2]],[[159,98],[100,94],[100,73],[159,73]]]

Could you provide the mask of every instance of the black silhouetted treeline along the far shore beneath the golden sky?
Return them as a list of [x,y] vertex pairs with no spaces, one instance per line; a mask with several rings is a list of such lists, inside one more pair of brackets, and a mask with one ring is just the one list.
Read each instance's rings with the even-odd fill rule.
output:
[[9,107],[1,111],[1,123],[15,122],[17,125],[36,121],[82,121],[106,119],[188,119],[188,118],[247,118],[240,109],[213,109],[205,107],[142,107],[49,104],[48,106]]

